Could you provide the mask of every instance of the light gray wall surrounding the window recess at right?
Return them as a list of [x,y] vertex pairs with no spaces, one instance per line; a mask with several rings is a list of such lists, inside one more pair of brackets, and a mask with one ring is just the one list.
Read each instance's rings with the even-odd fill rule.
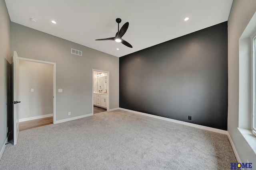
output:
[[256,12],[256,0],[234,0],[228,18],[228,133],[242,162],[256,166],[256,155],[238,131],[239,38]]

